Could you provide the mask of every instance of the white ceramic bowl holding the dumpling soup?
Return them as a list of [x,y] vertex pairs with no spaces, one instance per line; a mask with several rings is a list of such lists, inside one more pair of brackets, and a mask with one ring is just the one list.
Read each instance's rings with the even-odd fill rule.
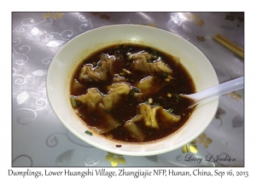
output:
[[[89,128],[73,112],[69,99],[70,78],[80,61],[96,49],[113,43],[142,43],[178,56],[195,81],[197,91],[218,84],[218,77],[207,57],[192,43],[172,32],[150,26],[116,25],[96,28],[84,32],[70,40],[58,53],[49,66],[47,76],[47,95],[49,104],[57,118],[68,130],[81,140],[102,150],[133,156],[147,156],[166,153],[183,147],[206,130],[217,108],[216,97],[203,102],[195,108],[189,122],[172,136],[163,140],[143,144],[111,141],[99,135],[84,134]],[[56,129],[57,130],[57,129]],[[116,145],[121,144],[121,147]]]

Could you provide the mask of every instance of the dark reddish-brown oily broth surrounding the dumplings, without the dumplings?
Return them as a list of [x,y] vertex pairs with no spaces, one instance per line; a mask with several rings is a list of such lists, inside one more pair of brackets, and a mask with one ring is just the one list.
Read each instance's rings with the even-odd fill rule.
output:
[[[132,60],[132,56],[136,54],[142,54],[148,52],[152,59],[148,60],[148,63],[156,63],[162,61],[172,69],[172,74],[168,72],[140,72],[134,69],[135,61]],[[96,81],[93,78],[89,80],[79,80],[81,75],[81,69],[84,66],[92,66],[91,69],[96,69],[101,67],[102,56],[114,57],[111,72],[107,72],[107,78],[104,80]],[[107,60],[108,61],[108,60]],[[125,69],[125,71],[124,71]],[[127,73],[127,72],[131,73]],[[135,95],[140,94],[142,90],[135,86],[143,79],[148,78],[148,76],[154,76],[156,79],[153,80],[155,86],[158,86],[158,90],[154,94],[148,94],[145,92],[140,97],[135,97]],[[171,78],[170,78],[171,76]],[[84,103],[77,101],[78,96],[85,95],[88,89],[97,90],[102,97],[108,95],[109,90],[106,86],[111,86],[113,83],[113,78],[125,79],[124,81],[116,83],[130,84],[131,91],[129,94],[121,95],[119,101],[113,104],[111,110],[105,109],[105,113],[111,116],[116,123],[119,125],[113,130],[101,133],[102,136],[106,136],[109,139],[116,141],[125,142],[149,142],[160,140],[166,136],[170,136],[177,130],[181,129],[184,124],[186,124],[193,113],[193,108],[188,108],[189,101],[186,99],[179,98],[179,94],[192,94],[195,93],[195,84],[189,75],[189,72],[182,66],[182,64],[175,59],[172,55],[168,55],[159,49],[154,49],[140,44],[116,44],[110,45],[106,48],[99,49],[90,56],[88,56],[84,61],[82,61],[79,66],[74,70],[72,83],[70,87],[70,96],[76,102],[76,107],[74,107],[75,113],[78,114],[79,118],[88,125],[91,129],[104,128],[108,126],[108,120],[105,119],[105,114],[91,112],[88,107],[84,106]],[[168,80],[169,79],[169,80]],[[79,88],[77,87],[79,84]],[[81,84],[83,87],[81,87]],[[155,85],[157,84],[157,85]],[[150,89],[148,90],[150,93]],[[148,99],[149,102],[148,102]],[[152,102],[151,102],[152,101]],[[158,128],[148,127],[143,119],[133,122],[136,127],[143,132],[143,141],[135,137],[136,135],[131,133],[131,130],[127,130],[124,127],[132,118],[138,115],[139,105],[149,105],[150,107],[162,107],[168,113],[172,113],[173,116],[180,117],[178,122],[175,124],[166,123],[163,120],[163,115],[159,113],[158,110],[155,113],[155,118],[158,124]],[[103,107],[104,108],[104,107]],[[99,127],[99,124],[101,125]],[[140,135],[138,132],[137,135]]]

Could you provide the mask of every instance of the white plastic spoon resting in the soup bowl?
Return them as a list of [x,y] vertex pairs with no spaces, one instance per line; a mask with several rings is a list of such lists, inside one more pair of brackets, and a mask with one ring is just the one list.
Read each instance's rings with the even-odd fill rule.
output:
[[234,90],[243,89],[243,77],[236,78],[233,80],[230,80],[228,82],[225,82],[223,84],[218,84],[216,86],[213,86],[207,90],[202,90],[198,93],[191,94],[191,95],[179,95],[181,97],[186,97],[191,100],[190,107],[194,107],[201,101],[205,101],[208,98],[218,96],[218,95],[224,95],[226,93],[229,93]]

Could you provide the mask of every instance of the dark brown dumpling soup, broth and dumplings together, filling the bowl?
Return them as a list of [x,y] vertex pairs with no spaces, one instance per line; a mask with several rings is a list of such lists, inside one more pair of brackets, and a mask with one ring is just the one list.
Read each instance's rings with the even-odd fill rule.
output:
[[160,140],[193,113],[179,97],[195,93],[179,58],[144,45],[97,50],[74,69],[70,88],[74,112],[84,124],[116,141]]

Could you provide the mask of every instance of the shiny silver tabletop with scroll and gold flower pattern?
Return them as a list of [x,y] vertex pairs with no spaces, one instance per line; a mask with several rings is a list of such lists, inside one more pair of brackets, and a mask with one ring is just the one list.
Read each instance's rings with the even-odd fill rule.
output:
[[244,76],[244,60],[212,37],[244,47],[243,13],[24,13],[12,14],[12,166],[244,166],[244,90],[220,96],[201,136],[154,156],[108,153],[81,141],[56,118],[46,76],[72,38],[100,26],[136,24],[173,32],[207,55],[219,83]]

